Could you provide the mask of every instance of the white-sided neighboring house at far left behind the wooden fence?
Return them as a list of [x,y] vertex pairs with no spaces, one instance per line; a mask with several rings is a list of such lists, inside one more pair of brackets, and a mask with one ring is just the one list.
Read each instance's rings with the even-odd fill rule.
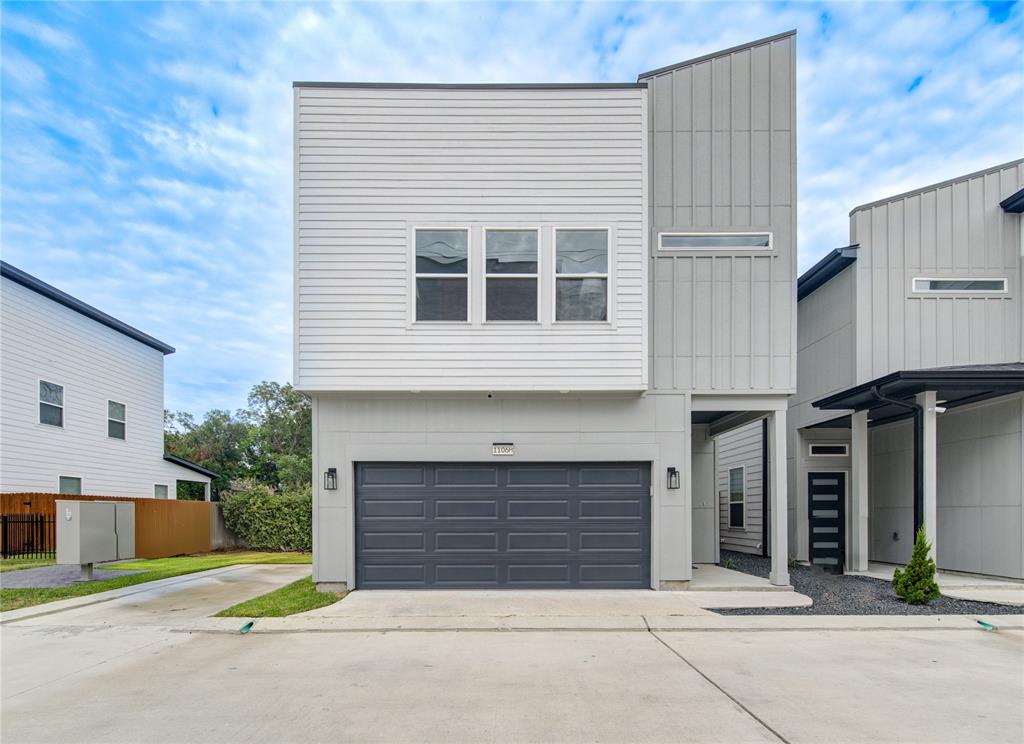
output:
[[164,454],[174,349],[0,262],[0,491],[175,498],[216,474]]

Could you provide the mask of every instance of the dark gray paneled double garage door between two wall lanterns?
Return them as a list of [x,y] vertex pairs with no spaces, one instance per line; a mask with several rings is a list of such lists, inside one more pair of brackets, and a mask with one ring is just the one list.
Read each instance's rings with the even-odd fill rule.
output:
[[364,463],[359,588],[646,588],[646,463]]

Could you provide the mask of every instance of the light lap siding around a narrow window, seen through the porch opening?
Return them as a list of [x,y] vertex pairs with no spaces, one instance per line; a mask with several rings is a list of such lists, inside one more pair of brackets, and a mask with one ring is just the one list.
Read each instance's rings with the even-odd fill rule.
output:
[[[723,434],[715,440],[718,459],[719,538],[722,548],[761,555],[764,538],[764,493],[760,421]],[[745,526],[729,527],[729,470],[742,466],[745,485]],[[724,491],[724,493],[723,493]]]

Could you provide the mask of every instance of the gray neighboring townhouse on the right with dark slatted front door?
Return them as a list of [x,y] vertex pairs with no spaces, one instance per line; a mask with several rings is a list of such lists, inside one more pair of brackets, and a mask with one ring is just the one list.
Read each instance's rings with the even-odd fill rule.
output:
[[[939,568],[1024,578],[1022,210],[1024,161],[864,205],[800,277],[798,559],[905,563],[924,524]],[[748,439],[718,440],[720,480],[760,467]]]

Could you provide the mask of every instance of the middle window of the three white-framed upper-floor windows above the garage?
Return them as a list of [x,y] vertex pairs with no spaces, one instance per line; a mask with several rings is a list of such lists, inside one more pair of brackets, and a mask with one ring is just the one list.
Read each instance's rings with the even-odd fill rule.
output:
[[538,229],[483,231],[483,319],[536,322],[540,319]]

